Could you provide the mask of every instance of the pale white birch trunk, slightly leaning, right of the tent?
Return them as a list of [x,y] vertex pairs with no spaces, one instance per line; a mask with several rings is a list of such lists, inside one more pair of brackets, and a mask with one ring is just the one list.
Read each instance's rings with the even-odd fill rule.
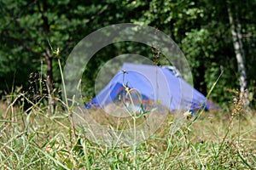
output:
[[[240,99],[243,102],[244,107],[247,109],[249,105],[248,91],[247,91],[247,71],[245,67],[245,53],[243,49],[243,44],[241,41],[241,24],[237,19],[234,20],[234,14],[232,12],[230,1],[227,2],[231,35],[233,39],[233,46],[236,54],[237,68],[239,72],[239,82],[240,82]],[[236,13],[236,12],[235,12]]]

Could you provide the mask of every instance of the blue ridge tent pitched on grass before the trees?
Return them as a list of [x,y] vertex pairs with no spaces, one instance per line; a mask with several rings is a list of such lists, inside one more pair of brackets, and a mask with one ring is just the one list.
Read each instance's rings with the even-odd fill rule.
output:
[[[104,107],[116,102],[124,97],[126,87],[136,89],[145,107],[150,102],[158,102],[170,111],[216,108],[203,94],[167,68],[131,63],[124,63],[121,71],[86,105],[86,108],[90,108],[91,105]],[[136,98],[138,97],[132,97],[134,100],[137,100]]]

